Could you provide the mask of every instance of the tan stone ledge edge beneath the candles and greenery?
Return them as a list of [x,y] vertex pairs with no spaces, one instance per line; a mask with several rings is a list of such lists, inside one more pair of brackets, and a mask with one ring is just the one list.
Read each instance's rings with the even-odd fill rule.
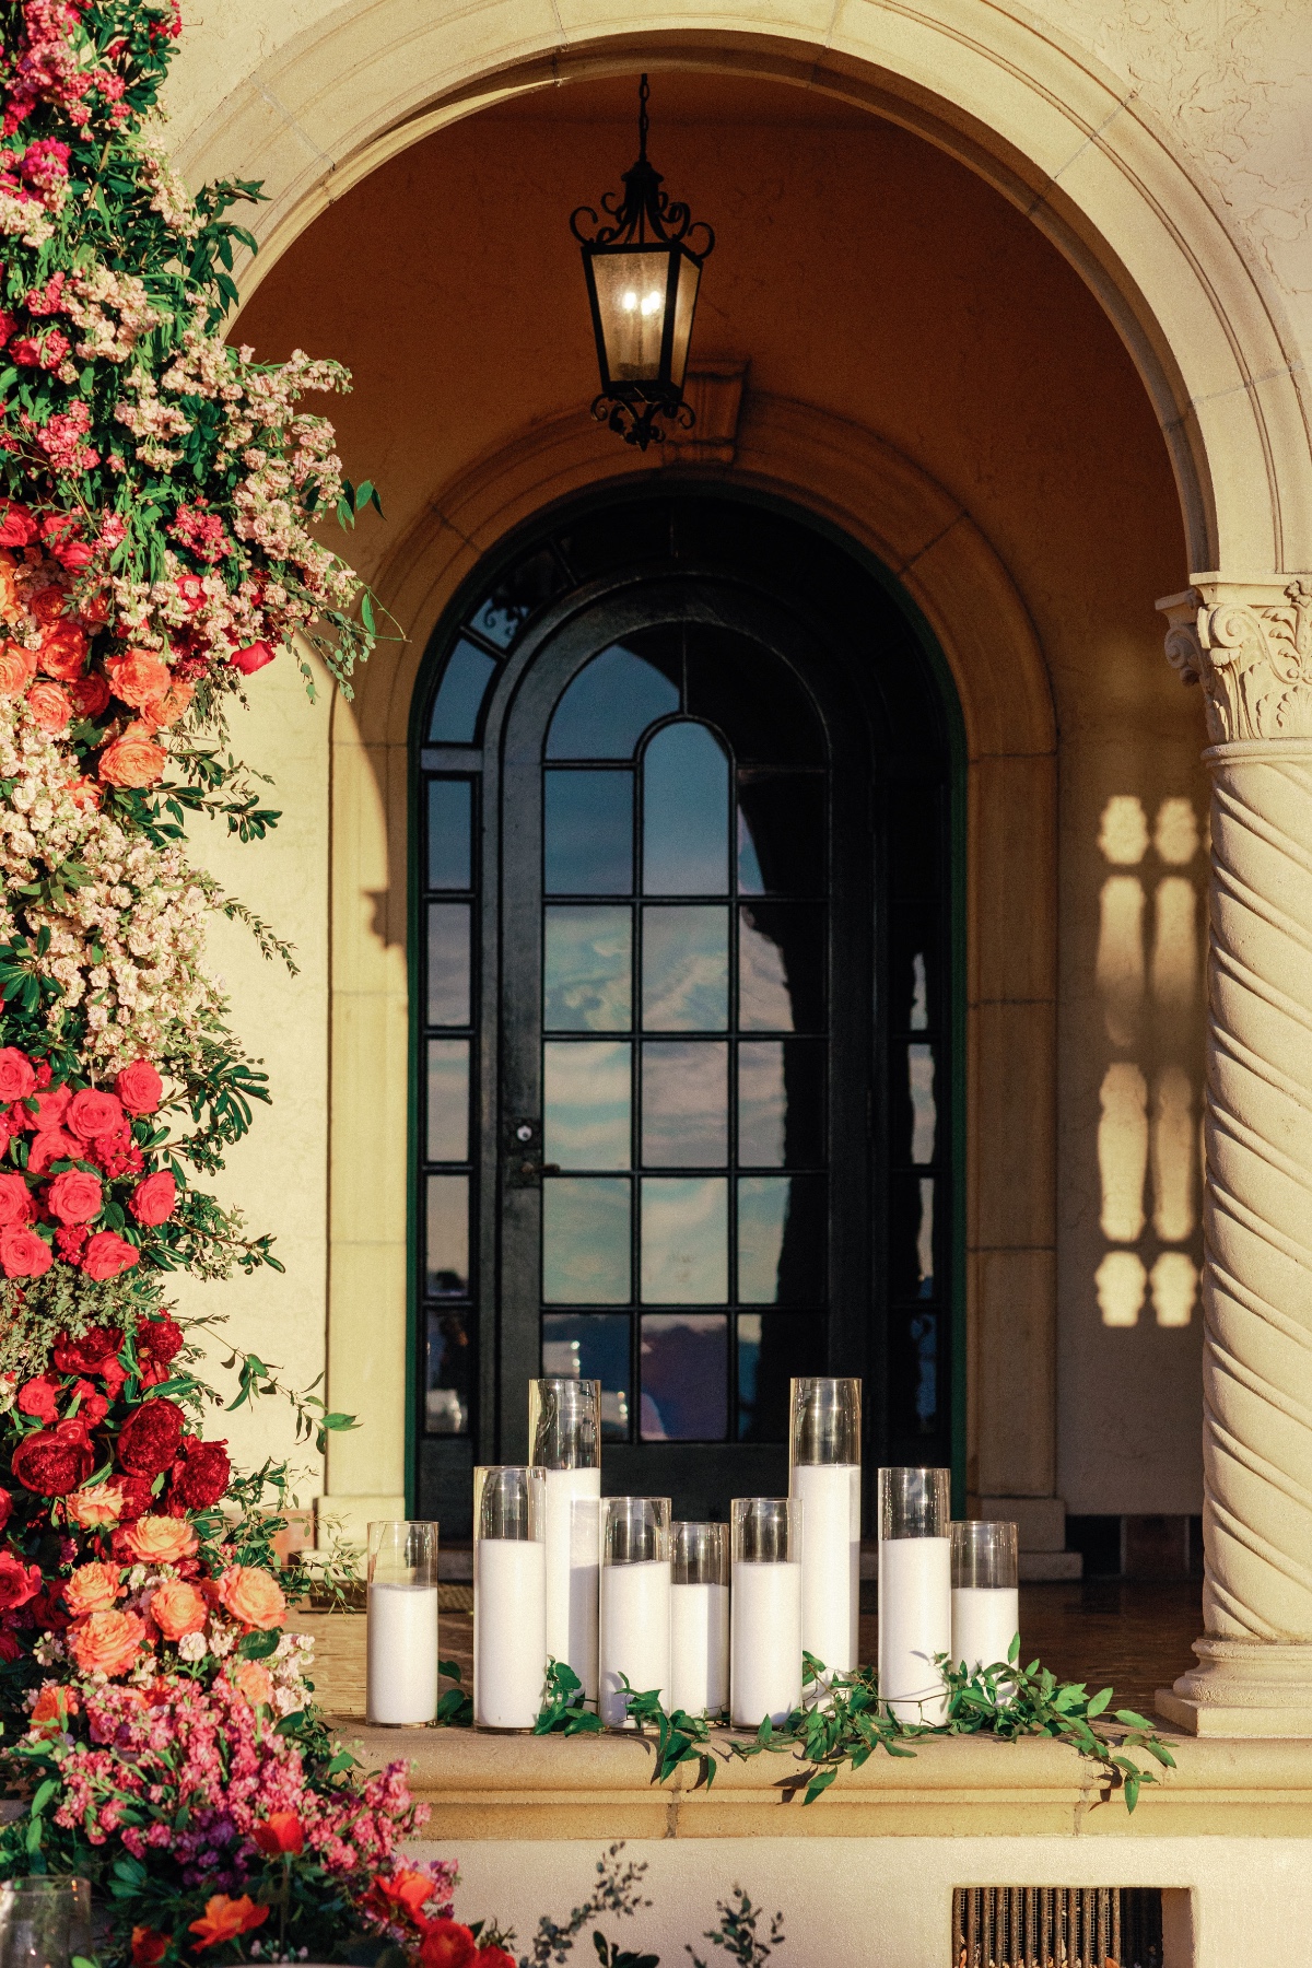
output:
[[[789,1763],[722,1763],[651,1785],[651,1746],[622,1736],[496,1736],[332,1724],[374,1767],[405,1757],[431,1809],[425,1838],[1312,1838],[1312,1750],[1163,1732],[1178,1769],[1133,1816],[1096,1765],[1048,1740],[938,1738],[915,1759],[871,1755],[803,1807]],[[1147,1759],[1145,1759],[1147,1761]]]

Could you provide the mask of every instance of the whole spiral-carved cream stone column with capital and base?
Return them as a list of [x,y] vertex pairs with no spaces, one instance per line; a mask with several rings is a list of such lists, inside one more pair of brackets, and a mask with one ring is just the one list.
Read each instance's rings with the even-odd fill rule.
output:
[[1159,1712],[1312,1736],[1312,581],[1198,577],[1166,655],[1212,746],[1204,1637]]

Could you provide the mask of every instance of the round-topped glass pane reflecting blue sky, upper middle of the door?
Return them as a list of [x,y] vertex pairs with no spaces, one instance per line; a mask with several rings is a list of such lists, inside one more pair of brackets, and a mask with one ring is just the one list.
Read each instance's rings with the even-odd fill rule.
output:
[[643,754],[643,892],[730,886],[730,762],[704,724],[667,724]]

